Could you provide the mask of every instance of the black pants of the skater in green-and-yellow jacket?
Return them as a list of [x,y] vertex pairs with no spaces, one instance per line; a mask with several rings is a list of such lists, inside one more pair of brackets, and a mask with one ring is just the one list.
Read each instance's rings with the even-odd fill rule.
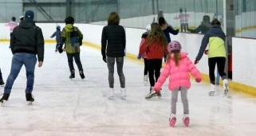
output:
[[75,62],[77,64],[79,71],[83,71],[83,67],[82,67],[81,60],[80,60],[80,52],[76,52],[76,53],[68,53],[67,52],[67,56],[68,56],[68,61],[69,61],[70,72],[75,69],[73,66],[73,58],[75,59]]

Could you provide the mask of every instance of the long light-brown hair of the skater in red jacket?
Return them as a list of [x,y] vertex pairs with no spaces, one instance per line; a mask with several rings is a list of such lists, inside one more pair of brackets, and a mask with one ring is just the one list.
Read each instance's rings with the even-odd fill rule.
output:
[[160,25],[156,22],[153,22],[151,24],[151,32],[149,33],[147,38],[148,38],[148,42],[146,46],[148,47],[151,46],[154,41],[158,43],[161,42],[163,49],[167,47],[166,37],[162,29],[160,28]]

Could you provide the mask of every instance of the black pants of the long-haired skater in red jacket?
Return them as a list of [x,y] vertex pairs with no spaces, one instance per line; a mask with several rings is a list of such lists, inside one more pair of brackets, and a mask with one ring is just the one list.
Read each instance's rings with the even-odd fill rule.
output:
[[149,76],[149,82],[151,87],[154,87],[155,82],[160,77],[161,67],[162,67],[162,59],[148,59],[148,76]]

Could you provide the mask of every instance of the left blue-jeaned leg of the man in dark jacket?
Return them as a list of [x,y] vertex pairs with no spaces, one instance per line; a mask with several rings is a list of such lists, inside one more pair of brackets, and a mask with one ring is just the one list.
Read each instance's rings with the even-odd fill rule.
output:
[[21,71],[23,62],[22,62],[22,53],[15,53],[10,66],[10,75],[6,80],[5,93],[10,94],[10,91],[14,85],[18,73]]

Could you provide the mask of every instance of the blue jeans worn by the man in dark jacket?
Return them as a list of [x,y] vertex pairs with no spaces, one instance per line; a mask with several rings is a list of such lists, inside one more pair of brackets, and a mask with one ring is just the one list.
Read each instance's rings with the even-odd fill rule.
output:
[[26,68],[26,93],[33,91],[34,68],[37,64],[37,56],[32,53],[15,53],[11,62],[10,75],[6,80],[5,93],[10,94],[14,81],[20,72],[23,64]]

